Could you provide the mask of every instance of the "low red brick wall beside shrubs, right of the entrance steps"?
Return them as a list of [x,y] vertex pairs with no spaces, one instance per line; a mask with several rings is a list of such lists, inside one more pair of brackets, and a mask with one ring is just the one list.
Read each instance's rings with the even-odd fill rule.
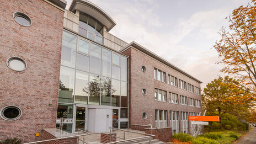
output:
[[158,129],[146,129],[146,134],[155,135],[153,139],[157,139],[159,141],[168,142],[172,138],[172,128],[162,128]]

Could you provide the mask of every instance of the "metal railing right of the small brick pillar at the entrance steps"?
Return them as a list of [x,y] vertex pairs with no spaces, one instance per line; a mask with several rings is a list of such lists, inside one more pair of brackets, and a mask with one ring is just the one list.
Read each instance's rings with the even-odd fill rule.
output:
[[[145,143],[142,143],[142,142],[134,141],[134,140],[140,140],[140,139],[145,139],[145,138],[150,138],[150,144],[151,144],[152,137],[155,136],[155,135],[145,134],[145,133],[141,133],[141,132],[135,132],[135,131],[127,131],[127,130],[116,129],[116,128],[114,128],[114,127],[109,127],[109,129],[111,129],[111,130],[110,130],[110,140],[111,140],[111,136],[120,138],[120,139],[122,139],[122,140],[120,140],[120,141],[114,141],[114,142],[109,142],[109,143],[106,143],[106,144],[121,143],[121,142],[124,142],[124,143],[125,143],[126,141],[131,141],[131,142],[135,142],[135,143],[145,144]],[[112,133],[111,133],[112,130],[124,131],[124,137],[118,137],[118,136],[112,135]],[[141,134],[141,135],[146,135],[146,136],[125,139],[125,132],[131,132],[131,133],[134,133],[134,134]]]

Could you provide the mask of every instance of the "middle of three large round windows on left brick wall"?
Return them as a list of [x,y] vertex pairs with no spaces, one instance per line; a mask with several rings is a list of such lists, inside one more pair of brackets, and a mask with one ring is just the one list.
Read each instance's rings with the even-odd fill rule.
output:
[[26,69],[26,62],[19,57],[10,57],[6,63],[14,71],[24,71]]

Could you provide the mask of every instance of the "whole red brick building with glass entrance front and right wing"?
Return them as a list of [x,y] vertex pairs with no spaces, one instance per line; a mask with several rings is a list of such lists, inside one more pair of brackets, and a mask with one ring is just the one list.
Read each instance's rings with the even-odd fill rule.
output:
[[[86,0],[4,1],[0,19],[0,140],[42,139],[46,128],[76,133],[152,124],[191,132],[200,81],[136,42]],[[36,134],[39,134],[36,135]]]

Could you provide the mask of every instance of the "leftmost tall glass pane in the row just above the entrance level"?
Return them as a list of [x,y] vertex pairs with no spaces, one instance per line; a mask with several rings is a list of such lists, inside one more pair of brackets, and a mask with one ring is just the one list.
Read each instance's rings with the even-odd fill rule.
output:
[[58,102],[73,103],[74,69],[61,66]]

